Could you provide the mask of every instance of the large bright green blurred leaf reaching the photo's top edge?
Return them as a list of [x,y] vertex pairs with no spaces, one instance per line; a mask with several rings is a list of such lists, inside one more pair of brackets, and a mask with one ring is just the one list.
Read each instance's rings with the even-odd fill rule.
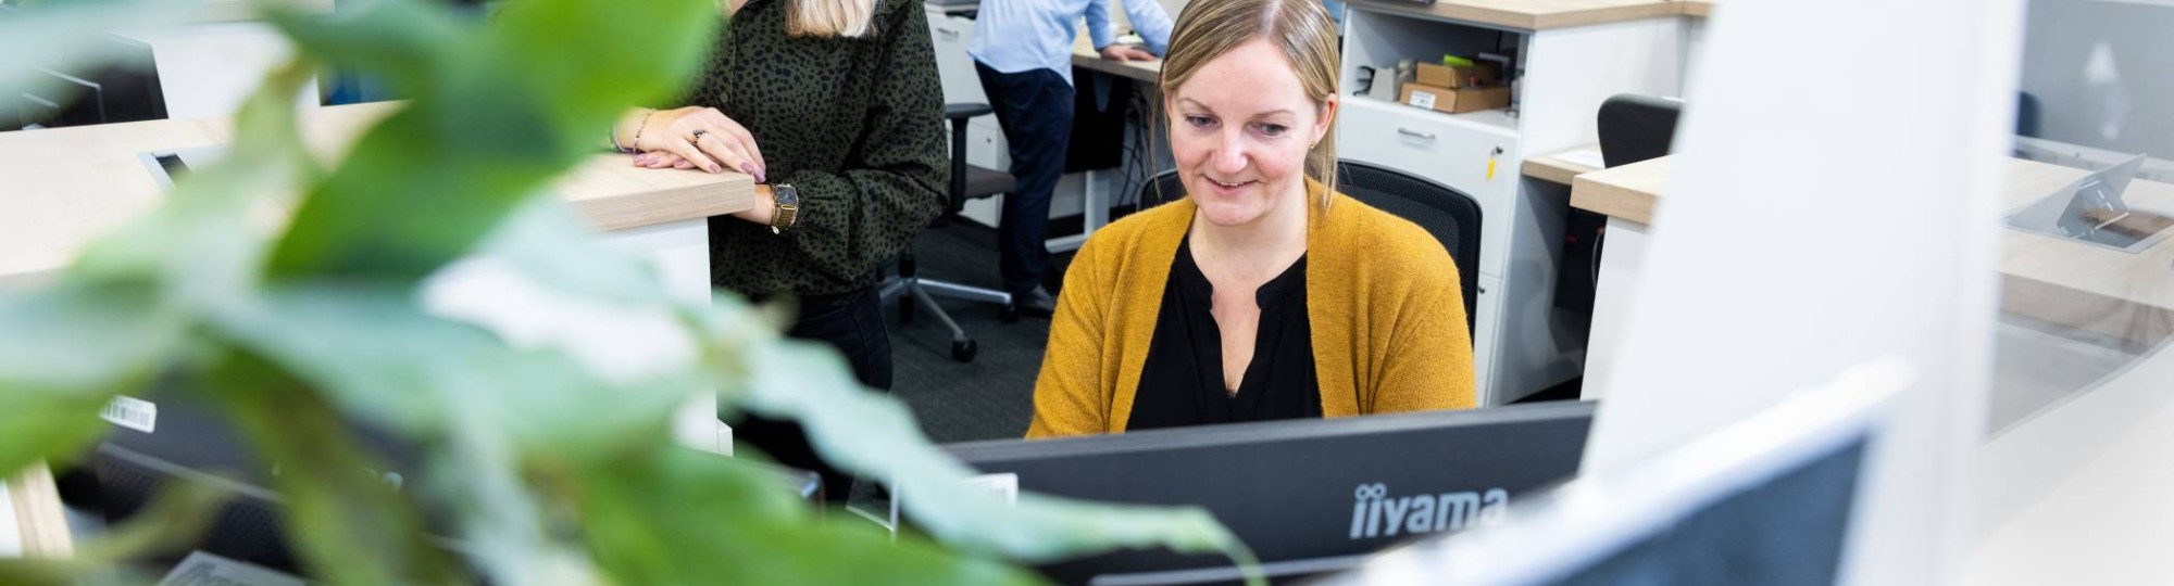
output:
[[[346,22],[352,30],[343,39],[409,39],[398,28],[433,11],[420,2],[383,0],[389,13]],[[641,2],[644,17],[626,17],[630,9],[522,0],[489,26],[457,26],[454,35],[472,41],[354,59],[365,67],[415,59],[443,72],[430,76],[437,91],[378,124],[313,189],[272,273],[415,280],[467,252],[552,176],[600,152],[617,113],[683,87],[720,22],[704,0]],[[428,22],[430,30],[446,26]]]

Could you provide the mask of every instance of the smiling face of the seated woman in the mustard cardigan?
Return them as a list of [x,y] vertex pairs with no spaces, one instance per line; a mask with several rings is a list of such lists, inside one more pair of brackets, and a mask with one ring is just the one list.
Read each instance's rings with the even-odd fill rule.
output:
[[1307,198],[1307,150],[1328,132],[1335,98],[1307,98],[1265,39],[1211,59],[1163,100],[1178,176],[1207,221],[1244,226]]

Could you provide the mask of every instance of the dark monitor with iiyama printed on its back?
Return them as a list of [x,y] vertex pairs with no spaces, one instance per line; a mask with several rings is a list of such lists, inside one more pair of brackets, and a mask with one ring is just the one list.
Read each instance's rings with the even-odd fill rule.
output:
[[[1348,569],[1428,534],[1498,523],[1578,471],[1594,404],[1263,421],[1052,441],[983,441],[950,454],[1020,491],[1200,506],[1272,579]],[[911,519],[909,519],[911,521]],[[1059,584],[1233,584],[1222,556],[1115,551],[1039,566]]]

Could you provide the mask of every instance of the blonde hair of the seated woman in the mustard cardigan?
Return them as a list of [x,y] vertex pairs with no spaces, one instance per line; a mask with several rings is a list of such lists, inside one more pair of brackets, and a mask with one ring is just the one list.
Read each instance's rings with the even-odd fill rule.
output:
[[[1291,61],[1291,74],[1313,100],[1317,115],[1326,115],[1330,95],[1337,95],[1337,26],[1328,20],[1322,0],[1191,0],[1178,13],[1178,24],[1170,33],[1170,54],[1163,56],[1163,78],[1157,82],[1163,95],[1174,95],[1194,72],[1215,61],[1224,52],[1263,39]],[[1157,102],[1157,109],[1161,104]],[[1170,132],[1170,113],[1159,115],[1161,130]],[[1328,122],[1328,132],[1307,152],[1307,176],[1326,187],[1322,206],[1337,189],[1337,128]]]

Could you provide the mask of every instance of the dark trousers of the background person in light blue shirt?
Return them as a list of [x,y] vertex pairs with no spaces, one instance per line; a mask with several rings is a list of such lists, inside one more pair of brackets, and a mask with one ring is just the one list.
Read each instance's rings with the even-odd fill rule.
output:
[[1044,239],[1050,228],[1050,193],[1065,171],[1074,93],[1050,69],[1004,74],[976,61],[974,72],[980,74],[980,91],[989,93],[996,122],[1004,126],[1011,176],[1017,178],[1017,187],[1004,193],[1002,226],[996,226],[998,269],[1007,293],[1026,293],[1050,271]]

